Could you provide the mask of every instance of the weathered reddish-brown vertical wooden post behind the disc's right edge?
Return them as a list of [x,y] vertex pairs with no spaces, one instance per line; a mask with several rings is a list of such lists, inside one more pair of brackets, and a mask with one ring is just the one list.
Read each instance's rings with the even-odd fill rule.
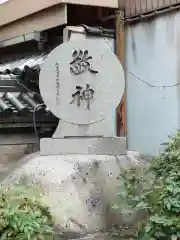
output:
[[[124,33],[124,1],[119,1],[116,12],[116,55],[125,69],[125,33]],[[121,81],[121,80],[120,80]],[[117,136],[126,136],[126,94],[117,107]]]

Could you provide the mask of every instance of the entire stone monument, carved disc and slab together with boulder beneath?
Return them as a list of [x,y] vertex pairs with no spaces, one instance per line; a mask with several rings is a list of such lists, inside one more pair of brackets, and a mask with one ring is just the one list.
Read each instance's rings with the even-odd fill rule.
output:
[[39,85],[59,126],[52,138],[41,139],[40,153],[20,160],[2,185],[26,180],[38,187],[63,232],[107,231],[119,222],[111,211],[117,178],[122,167],[134,164],[125,138],[116,137],[112,127],[124,92],[122,66],[105,42],[67,42],[43,63]]

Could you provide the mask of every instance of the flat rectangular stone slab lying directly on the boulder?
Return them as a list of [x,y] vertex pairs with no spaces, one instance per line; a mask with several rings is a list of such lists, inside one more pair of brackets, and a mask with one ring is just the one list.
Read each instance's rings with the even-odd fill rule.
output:
[[126,138],[43,138],[41,155],[96,154],[120,156],[126,154]]

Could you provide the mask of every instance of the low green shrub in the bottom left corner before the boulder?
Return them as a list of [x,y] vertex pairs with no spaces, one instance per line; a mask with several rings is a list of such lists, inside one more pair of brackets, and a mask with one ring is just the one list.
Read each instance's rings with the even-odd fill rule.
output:
[[35,189],[0,191],[0,240],[55,239],[53,220]]

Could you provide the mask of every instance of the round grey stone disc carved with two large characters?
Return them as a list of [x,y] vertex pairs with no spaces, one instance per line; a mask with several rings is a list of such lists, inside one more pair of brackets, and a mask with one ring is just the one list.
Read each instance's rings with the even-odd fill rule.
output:
[[39,86],[44,103],[65,122],[85,125],[108,117],[122,99],[123,68],[104,41],[70,41],[47,57]]

